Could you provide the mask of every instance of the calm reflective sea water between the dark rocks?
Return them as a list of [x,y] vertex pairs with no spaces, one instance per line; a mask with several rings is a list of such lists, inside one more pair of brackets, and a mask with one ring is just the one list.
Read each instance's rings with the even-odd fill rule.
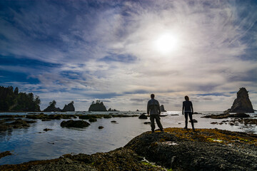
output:
[[[89,112],[70,112],[66,114],[108,114]],[[143,112],[114,112],[127,115],[140,115]],[[203,115],[220,114],[222,112],[201,112],[194,114],[195,128],[218,128],[222,130],[240,131],[246,133],[257,133],[256,125],[213,125],[211,122],[221,123],[222,119],[201,118]],[[50,113],[49,113],[50,114]],[[52,113],[51,113],[52,114]],[[64,114],[64,113],[61,113]],[[168,111],[162,113],[167,115],[161,117],[163,128],[183,128],[184,116],[179,111]],[[174,115],[178,114],[178,115]],[[248,113],[250,114],[250,113]],[[26,113],[0,113],[0,115],[26,115]],[[257,118],[257,113],[250,114],[252,118]],[[76,120],[76,119],[75,119]],[[111,123],[116,120],[116,123]],[[87,128],[61,128],[63,120],[44,121],[36,120],[26,129],[13,129],[0,131],[0,152],[11,151],[13,155],[2,157],[0,165],[18,164],[31,160],[48,160],[60,157],[64,154],[93,154],[96,152],[108,152],[118,147],[123,147],[137,135],[151,130],[149,124],[143,124],[150,120],[140,120],[138,117],[131,118],[102,118],[91,123]],[[99,126],[104,129],[99,130]],[[44,131],[45,128],[52,130]],[[157,129],[156,125],[156,129]],[[191,123],[188,123],[191,128]]]

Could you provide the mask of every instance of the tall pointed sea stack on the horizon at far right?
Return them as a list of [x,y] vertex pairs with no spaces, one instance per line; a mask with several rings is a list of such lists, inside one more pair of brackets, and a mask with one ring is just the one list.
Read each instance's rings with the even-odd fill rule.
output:
[[248,91],[246,88],[240,88],[233,105],[224,113],[254,113],[253,105],[249,99]]

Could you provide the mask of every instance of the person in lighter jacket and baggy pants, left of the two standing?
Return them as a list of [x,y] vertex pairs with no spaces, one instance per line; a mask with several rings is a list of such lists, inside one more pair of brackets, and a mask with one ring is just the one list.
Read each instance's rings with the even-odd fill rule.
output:
[[151,100],[148,100],[148,103],[147,103],[147,115],[149,114],[150,114],[152,133],[154,133],[154,129],[155,129],[154,119],[156,120],[158,128],[160,128],[161,131],[164,131],[161,125],[160,116],[159,116],[161,114],[160,104],[158,103],[158,100],[154,99],[154,94],[151,94]]

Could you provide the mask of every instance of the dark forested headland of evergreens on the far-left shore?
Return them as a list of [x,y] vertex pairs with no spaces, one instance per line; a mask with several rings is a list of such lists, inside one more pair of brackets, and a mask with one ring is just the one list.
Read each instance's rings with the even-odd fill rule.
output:
[[19,92],[19,88],[0,86],[0,111],[40,111],[41,100],[33,93]]

